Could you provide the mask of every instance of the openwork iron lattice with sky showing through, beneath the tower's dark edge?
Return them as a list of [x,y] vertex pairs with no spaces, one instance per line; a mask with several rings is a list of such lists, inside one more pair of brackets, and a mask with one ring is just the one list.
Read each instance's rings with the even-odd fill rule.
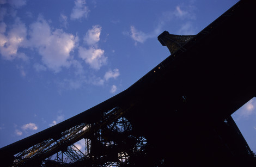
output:
[[113,108],[96,123],[81,123],[15,155],[13,166],[127,166],[147,140],[133,134],[125,110]]

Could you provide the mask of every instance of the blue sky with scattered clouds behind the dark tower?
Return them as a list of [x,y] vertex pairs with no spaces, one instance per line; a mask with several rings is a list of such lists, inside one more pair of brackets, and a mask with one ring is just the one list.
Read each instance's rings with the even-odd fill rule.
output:
[[[164,30],[197,34],[236,2],[0,0],[0,147],[129,88],[168,57]],[[235,117],[254,140],[255,101]]]

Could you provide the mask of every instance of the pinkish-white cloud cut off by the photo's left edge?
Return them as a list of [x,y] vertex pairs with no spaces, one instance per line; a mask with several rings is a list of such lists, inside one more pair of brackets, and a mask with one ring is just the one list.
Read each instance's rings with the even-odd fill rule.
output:
[[27,28],[24,23],[16,18],[15,23],[11,26],[9,32],[5,36],[6,24],[0,24],[0,53],[6,60],[13,60],[15,58],[21,58],[27,60],[28,58],[24,53],[19,53],[19,47],[26,47],[27,42]]

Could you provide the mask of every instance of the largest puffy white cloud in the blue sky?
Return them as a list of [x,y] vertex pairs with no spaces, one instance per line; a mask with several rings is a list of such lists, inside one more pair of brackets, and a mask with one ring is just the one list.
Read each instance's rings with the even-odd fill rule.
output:
[[77,38],[63,32],[62,29],[51,30],[49,24],[39,16],[38,21],[30,26],[30,45],[38,48],[42,62],[54,72],[61,67],[69,67],[72,59],[70,52],[74,51]]

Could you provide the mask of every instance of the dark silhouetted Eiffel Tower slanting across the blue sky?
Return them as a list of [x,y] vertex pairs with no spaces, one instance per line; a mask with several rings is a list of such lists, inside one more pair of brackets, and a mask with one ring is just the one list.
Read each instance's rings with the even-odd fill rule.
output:
[[255,166],[230,116],[256,96],[254,8],[240,1],[194,36],[163,32],[171,55],[162,63],[105,102],[1,148],[1,166]]

